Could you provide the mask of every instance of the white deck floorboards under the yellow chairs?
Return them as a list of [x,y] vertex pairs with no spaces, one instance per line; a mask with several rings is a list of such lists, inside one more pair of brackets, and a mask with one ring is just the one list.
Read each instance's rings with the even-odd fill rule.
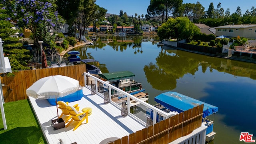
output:
[[[38,100],[29,97],[38,122],[42,128],[46,140],[49,144],[57,144],[58,139],[62,139],[63,144],[99,144],[102,140],[110,137],[122,138],[138,130],[145,128],[143,124],[130,116],[122,117],[121,110],[111,103],[104,104],[101,96],[91,95],[90,90],[83,88],[84,97],[76,102],[70,102],[73,106],[78,104],[80,112],[84,107],[92,108],[92,115],[73,131],[77,122],[72,122],[67,128],[53,130],[51,120],[57,118],[56,106],[52,106],[47,100]],[[58,109],[59,115],[61,110]],[[63,119],[66,120],[66,116]]]

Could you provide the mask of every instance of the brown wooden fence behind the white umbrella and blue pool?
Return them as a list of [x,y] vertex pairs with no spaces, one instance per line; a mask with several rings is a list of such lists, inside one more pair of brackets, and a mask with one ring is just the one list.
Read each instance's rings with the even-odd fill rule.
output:
[[17,100],[27,99],[28,96],[26,95],[26,89],[29,88],[34,82],[36,82],[40,78],[46,76],[68,76],[78,80],[79,84],[81,86],[84,86],[84,76],[82,76],[84,72],[86,72],[85,64],[13,72],[15,74],[14,77],[1,77],[4,102],[13,102]]

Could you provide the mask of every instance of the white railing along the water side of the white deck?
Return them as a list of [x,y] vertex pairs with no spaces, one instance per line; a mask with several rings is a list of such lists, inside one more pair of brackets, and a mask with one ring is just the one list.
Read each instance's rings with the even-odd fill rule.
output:
[[[100,83],[100,84],[99,84]],[[120,108],[121,106],[116,104],[115,102],[113,102],[111,99],[113,98],[113,95],[118,94],[120,97],[127,97],[127,110],[128,110],[128,115],[133,116],[134,118],[136,118],[137,120],[140,120],[141,122],[145,122],[144,120],[142,120],[142,118],[138,118],[136,116],[134,116],[130,110],[133,110],[132,107],[130,106],[130,100],[136,100],[136,102],[139,102],[142,106],[144,106],[144,108],[148,108],[150,110],[153,110],[153,124],[157,123],[157,114],[161,115],[163,120],[166,118],[169,118],[171,116],[176,115],[176,112],[169,112],[166,113],[158,108],[156,108],[155,106],[152,106],[151,104],[148,104],[147,102],[144,102],[143,100],[140,100],[139,98],[132,96],[131,94],[124,92],[123,90],[120,90],[119,88],[117,88],[116,86],[113,86],[103,80],[100,80],[99,78],[97,78],[96,76],[90,75],[86,72],[84,72],[84,85],[85,87],[91,89],[90,85],[94,86],[95,88],[95,93],[99,96],[104,97],[104,94],[102,93],[104,90],[105,92],[108,92],[108,97],[110,100],[110,103],[112,103],[113,105],[117,106],[118,108]],[[104,87],[100,87],[100,85],[104,86]],[[100,87],[100,88],[98,88]],[[120,109],[121,110],[121,109]],[[146,116],[146,114],[145,114]]]

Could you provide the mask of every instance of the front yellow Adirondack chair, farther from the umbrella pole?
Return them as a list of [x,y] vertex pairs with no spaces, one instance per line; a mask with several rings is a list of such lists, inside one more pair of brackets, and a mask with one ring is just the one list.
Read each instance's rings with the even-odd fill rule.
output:
[[78,122],[78,124],[75,126],[74,130],[76,130],[78,128],[78,126],[80,126],[85,119],[86,119],[86,124],[88,123],[89,109],[82,113],[79,113],[73,106],[68,106],[67,109],[69,111],[69,114],[72,116],[72,118],[71,118],[70,122],[66,125],[66,127],[68,127],[72,123],[73,120]]

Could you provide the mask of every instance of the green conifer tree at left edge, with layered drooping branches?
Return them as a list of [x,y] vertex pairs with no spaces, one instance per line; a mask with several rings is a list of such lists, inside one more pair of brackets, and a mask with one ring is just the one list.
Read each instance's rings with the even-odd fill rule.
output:
[[9,58],[12,71],[26,70],[28,60],[31,56],[29,50],[22,47],[22,43],[18,43],[18,38],[12,38],[10,35],[15,34],[17,30],[12,29],[12,24],[7,21],[9,16],[6,14],[5,7],[0,4],[0,38],[3,42],[4,54]]

